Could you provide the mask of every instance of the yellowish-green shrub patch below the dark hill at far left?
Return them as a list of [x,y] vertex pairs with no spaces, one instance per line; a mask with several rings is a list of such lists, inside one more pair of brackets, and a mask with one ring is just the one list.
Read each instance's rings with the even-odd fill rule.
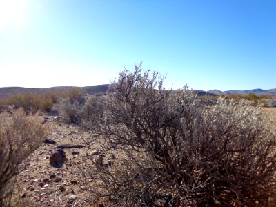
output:
[[23,108],[26,112],[47,111],[52,108],[52,99],[48,95],[35,95],[33,93],[11,95],[6,101],[14,108]]

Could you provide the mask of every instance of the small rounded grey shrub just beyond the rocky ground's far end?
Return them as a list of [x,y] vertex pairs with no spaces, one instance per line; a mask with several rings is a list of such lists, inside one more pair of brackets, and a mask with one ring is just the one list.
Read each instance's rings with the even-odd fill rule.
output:
[[70,99],[63,99],[61,103],[61,115],[66,124],[79,124],[81,120],[81,106]]

